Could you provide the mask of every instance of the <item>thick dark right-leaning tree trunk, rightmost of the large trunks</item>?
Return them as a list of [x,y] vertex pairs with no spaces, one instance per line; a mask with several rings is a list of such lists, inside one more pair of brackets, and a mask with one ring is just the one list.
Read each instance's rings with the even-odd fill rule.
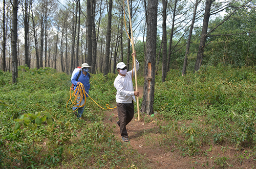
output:
[[204,12],[204,20],[203,20],[203,28],[202,28],[202,34],[200,37],[200,45],[197,53],[197,60],[195,64],[194,71],[198,71],[202,65],[203,55],[204,55],[204,46],[206,43],[207,38],[207,29],[208,29],[208,23],[210,18],[210,8],[211,4],[215,2],[215,0],[206,0],[205,3],[205,12]]

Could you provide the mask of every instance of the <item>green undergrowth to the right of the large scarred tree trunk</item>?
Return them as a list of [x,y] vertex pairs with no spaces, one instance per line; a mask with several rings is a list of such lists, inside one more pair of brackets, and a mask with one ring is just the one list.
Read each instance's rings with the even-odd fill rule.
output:
[[205,151],[205,147],[213,145],[236,150],[235,158],[211,157],[215,167],[237,161],[255,162],[255,68],[208,66],[186,76],[171,70],[164,83],[160,80],[156,80],[154,109],[158,118],[167,122],[158,126],[163,138],[168,138],[159,139],[161,145],[170,151],[179,150],[184,156],[207,156],[211,148]]

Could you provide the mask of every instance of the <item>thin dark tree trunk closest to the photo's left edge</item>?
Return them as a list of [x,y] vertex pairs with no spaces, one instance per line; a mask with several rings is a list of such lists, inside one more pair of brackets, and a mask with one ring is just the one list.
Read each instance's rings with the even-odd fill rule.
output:
[[3,71],[7,71],[6,67],[6,30],[5,30],[5,0],[3,0]]

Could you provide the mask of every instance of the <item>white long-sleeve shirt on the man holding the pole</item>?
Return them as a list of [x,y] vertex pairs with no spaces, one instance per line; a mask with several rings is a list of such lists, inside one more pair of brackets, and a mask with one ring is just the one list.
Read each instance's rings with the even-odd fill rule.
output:
[[[136,70],[139,69],[139,62],[136,59]],[[125,76],[118,76],[115,79],[114,86],[116,88],[116,103],[132,103],[136,102],[133,89],[132,74],[135,75],[135,70],[128,71]]]

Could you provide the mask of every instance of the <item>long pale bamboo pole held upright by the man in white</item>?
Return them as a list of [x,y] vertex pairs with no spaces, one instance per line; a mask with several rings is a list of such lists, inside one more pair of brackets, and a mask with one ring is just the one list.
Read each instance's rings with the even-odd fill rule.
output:
[[[135,49],[134,49],[134,42],[133,42],[133,28],[132,28],[132,18],[131,18],[129,0],[127,0],[127,6],[128,6],[129,20],[130,20],[131,41],[132,41],[132,47],[133,47],[133,53],[134,53],[134,52],[135,52]],[[135,65],[135,66],[134,66],[135,87],[136,87],[136,91],[138,91],[136,59],[135,59],[134,56],[133,56],[133,60],[134,60],[134,65]],[[139,108],[139,97],[138,97],[138,96],[136,96],[136,100],[137,100],[138,120],[140,120],[140,108]]]

